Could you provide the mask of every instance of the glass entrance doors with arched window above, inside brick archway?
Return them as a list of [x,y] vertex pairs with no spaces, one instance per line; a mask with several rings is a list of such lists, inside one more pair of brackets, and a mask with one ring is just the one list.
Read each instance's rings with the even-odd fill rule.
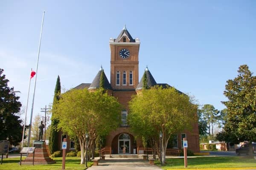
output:
[[131,139],[128,133],[122,133],[118,137],[118,153],[131,153]]

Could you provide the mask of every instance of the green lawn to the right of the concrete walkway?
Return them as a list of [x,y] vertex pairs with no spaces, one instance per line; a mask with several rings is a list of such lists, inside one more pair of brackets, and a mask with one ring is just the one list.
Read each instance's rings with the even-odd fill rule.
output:
[[[162,169],[183,169],[184,159],[166,159]],[[160,165],[159,161],[155,162]],[[234,167],[256,167],[256,160],[249,159],[248,156],[229,156],[229,157],[197,157],[188,158],[188,168],[234,168]]]

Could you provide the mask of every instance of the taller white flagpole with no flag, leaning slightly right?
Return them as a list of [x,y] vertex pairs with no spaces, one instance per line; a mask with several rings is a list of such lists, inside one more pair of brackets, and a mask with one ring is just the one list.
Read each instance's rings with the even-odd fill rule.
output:
[[[40,33],[40,40],[39,40],[39,47],[38,47],[38,59],[37,59],[37,65],[36,65],[36,74],[35,74],[35,85],[36,85],[36,78],[38,75],[38,61],[39,61],[39,54],[40,54],[40,46],[41,46],[41,38],[42,38],[42,31],[44,26],[44,13],[43,11],[43,20],[42,20],[42,26],[41,26],[41,33]],[[32,126],[32,116],[33,116],[33,108],[34,108],[34,99],[35,99],[35,87],[34,87],[34,94],[33,94],[33,100],[32,100],[32,108],[31,108],[31,115],[30,115],[30,123],[29,123],[29,139],[28,139],[28,147],[30,143],[30,136],[31,136],[31,126]]]

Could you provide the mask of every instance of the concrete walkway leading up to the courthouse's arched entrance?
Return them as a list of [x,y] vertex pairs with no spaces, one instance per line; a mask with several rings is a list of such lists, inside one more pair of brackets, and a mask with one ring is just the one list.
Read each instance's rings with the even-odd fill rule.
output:
[[149,161],[142,158],[110,158],[99,161],[99,166],[87,170],[161,170],[160,167],[150,166]]

